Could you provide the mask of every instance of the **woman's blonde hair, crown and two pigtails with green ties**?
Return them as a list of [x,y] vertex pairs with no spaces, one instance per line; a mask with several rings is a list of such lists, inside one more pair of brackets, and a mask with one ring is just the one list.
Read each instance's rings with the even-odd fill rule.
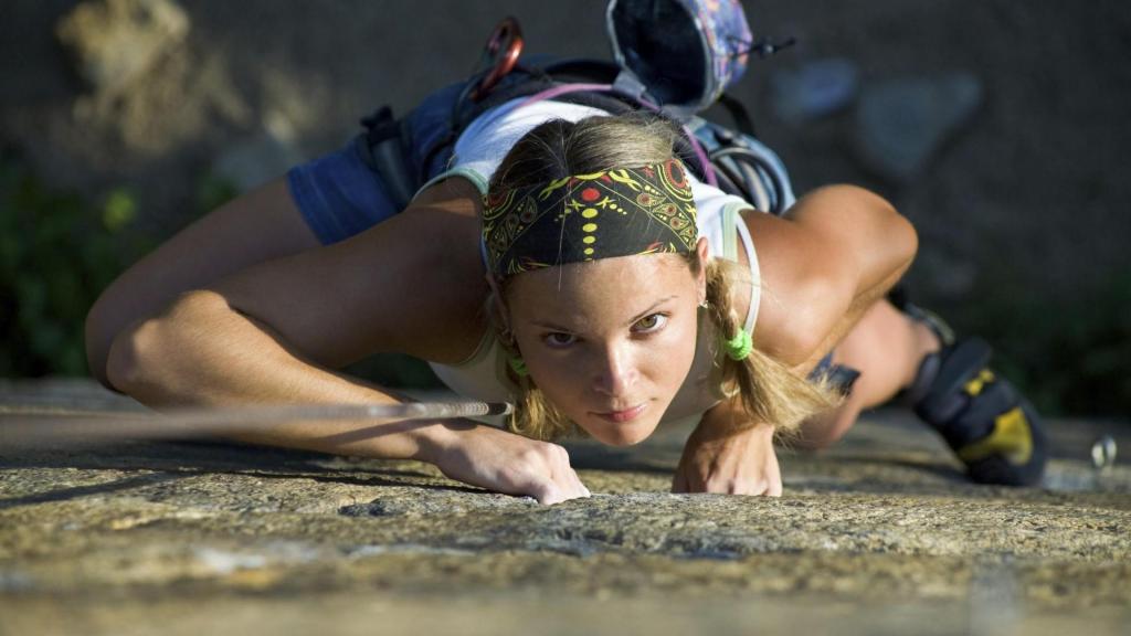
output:
[[[561,179],[570,174],[599,172],[614,166],[637,166],[672,158],[681,131],[670,121],[649,114],[593,117],[580,121],[547,121],[520,138],[491,179],[491,190],[521,188]],[[701,263],[697,251],[687,255],[692,274],[706,268],[709,317],[718,334],[732,337],[743,328],[733,309],[732,289],[750,284],[740,267],[731,261],[711,259]],[[499,293],[506,295],[507,281]],[[495,309],[501,304],[492,302]],[[499,341],[511,356],[519,352],[506,319],[492,311]],[[717,350],[717,345],[715,347]],[[824,381],[811,383],[788,367],[758,351],[742,361],[731,360],[715,351],[720,360],[723,392],[739,397],[748,422],[739,429],[771,423],[778,431],[793,431],[802,420],[835,406],[838,397]],[[581,431],[542,393],[529,376],[518,376],[508,369],[510,379],[520,388],[510,430],[535,439],[556,439]]]

